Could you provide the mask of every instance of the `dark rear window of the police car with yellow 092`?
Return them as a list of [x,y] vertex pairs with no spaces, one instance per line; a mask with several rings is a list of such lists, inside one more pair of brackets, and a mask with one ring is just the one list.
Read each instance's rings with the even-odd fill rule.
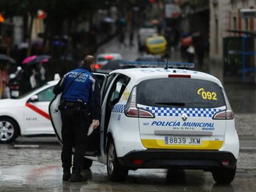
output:
[[155,107],[215,108],[225,105],[220,86],[192,78],[157,78],[138,85],[137,103]]

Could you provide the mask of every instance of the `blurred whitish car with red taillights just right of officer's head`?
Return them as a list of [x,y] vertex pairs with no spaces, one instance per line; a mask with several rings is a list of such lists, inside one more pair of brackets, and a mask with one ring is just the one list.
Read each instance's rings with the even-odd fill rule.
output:
[[103,67],[109,61],[111,61],[113,59],[122,59],[122,56],[119,53],[102,53],[102,54],[98,54],[96,56],[95,69],[101,69],[101,67]]

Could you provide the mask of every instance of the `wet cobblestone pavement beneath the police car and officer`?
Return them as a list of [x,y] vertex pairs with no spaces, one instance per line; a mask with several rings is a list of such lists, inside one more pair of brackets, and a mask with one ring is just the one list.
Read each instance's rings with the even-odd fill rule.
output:
[[[23,139],[24,140],[24,139]],[[54,138],[51,140],[54,141]],[[19,140],[18,140],[19,141]],[[106,165],[93,162],[83,170],[88,182],[62,182],[61,148],[58,143],[39,148],[1,145],[0,191],[254,191],[256,151],[241,151],[237,175],[231,185],[216,185],[202,170],[140,169],[129,171],[124,183],[109,182]]]

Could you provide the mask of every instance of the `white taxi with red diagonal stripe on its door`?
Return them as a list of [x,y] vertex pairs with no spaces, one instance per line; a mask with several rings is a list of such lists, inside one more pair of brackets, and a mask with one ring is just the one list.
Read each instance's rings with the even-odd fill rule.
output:
[[0,143],[11,143],[19,135],[54,135],[48,106],[57,82],[49,81],[17,99],[0,100]]

